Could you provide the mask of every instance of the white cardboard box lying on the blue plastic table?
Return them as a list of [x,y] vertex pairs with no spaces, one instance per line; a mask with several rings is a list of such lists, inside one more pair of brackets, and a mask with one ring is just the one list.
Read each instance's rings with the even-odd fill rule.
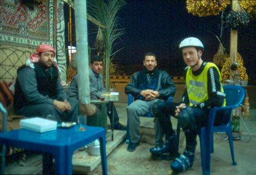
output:
[[19,125],[21,128],[34,130],[35,132],[39,133],[44,133],[57,128],[56,121],[47,120],[39,117],[22,119],[20,120]]

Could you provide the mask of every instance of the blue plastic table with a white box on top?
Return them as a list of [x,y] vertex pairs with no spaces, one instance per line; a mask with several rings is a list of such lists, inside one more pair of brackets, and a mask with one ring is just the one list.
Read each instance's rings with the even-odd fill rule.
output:
[[100,141],[102,174],[108,174],[106,166],[105,129],[86,126],[79,130],[79,125],[71,128],[57,128],[46,133],[37,133],[29,129],[15,129],[0,133],[0,144],[41,151],[43,154],[42,173],[49,174],[52,158],[55,158],[56,174],[72,174],[73,152],[95,139]]

